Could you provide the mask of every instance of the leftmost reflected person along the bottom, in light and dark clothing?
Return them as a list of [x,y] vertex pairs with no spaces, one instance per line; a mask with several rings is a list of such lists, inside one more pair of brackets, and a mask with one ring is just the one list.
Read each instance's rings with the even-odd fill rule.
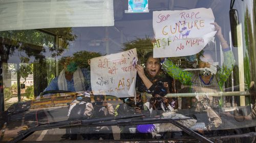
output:
[[[92,116],[92,113],[93,105],[91,103],[90,94],[84,93],[82,96],[77,96],[70,104],[68,120],[87,119]],[[88,129],[82,127],[66,129],[66,134],[62,135],[61,138],[76,140],[77,135],[81,134],[84,139],[88,139],[87,134],[85,134],[88,132]]]

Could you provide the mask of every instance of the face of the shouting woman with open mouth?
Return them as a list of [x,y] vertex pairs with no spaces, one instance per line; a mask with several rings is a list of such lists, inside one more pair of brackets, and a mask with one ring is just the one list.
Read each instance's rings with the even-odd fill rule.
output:
[[147,59],[146,71],[152,76],[156,76],[160,70],[160,60],[158,58],[153,58],[152,56]]

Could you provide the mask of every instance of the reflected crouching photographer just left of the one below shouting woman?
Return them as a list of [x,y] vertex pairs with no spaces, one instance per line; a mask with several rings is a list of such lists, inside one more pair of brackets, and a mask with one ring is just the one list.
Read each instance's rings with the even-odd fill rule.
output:
[[[136,103],[134,97],[123,98],[123,103],[116,106],[115,116],[126,116],[141,114],[143,111],[143,102],[141,101],[141,94],[136,93]],[[138,138],[137,133],[130,133],[129,128],[136,128],[136,126],[120,126],[120,139]]]

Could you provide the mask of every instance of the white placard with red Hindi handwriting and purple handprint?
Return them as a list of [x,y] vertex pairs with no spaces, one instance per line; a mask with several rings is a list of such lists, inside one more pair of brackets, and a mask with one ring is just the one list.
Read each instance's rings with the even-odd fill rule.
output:
[[137,61],[136,48],[91,59],[93,94],[133,97]]

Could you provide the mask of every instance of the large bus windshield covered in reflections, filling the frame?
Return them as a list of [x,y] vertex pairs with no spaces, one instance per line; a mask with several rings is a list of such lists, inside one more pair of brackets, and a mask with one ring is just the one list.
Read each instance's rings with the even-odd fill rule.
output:
[[243,7],[252,7],[248,1],[232,6],[239,15],[232,13],[234,23],[229,1],[149,1],[149,11],[135,13],[127,12],[131,1],[40,3],[50,2],[96,16],[87,21],[75,15],[65,20],[70,25],[51,28],[36,20],[35,27],[3,27],[3,140],[24,126],[41,127],[26,141],[255,132],[253,26],[246,20],[253,10]]

